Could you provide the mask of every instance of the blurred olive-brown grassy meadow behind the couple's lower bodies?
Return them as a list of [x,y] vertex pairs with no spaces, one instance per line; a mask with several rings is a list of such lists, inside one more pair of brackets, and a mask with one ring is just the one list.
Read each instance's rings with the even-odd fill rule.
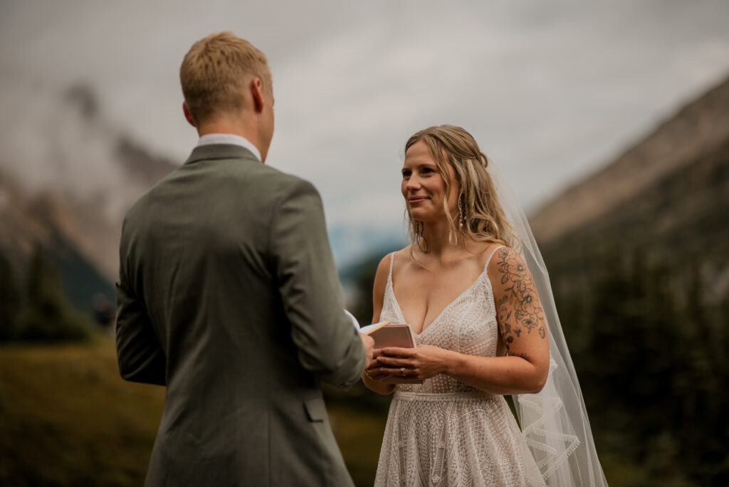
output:
[[[114,345],[0,346],[0,486],[141,486],[164,389],[119,377]],[[385,417],[340,404],[332,426],[372,485]]]

